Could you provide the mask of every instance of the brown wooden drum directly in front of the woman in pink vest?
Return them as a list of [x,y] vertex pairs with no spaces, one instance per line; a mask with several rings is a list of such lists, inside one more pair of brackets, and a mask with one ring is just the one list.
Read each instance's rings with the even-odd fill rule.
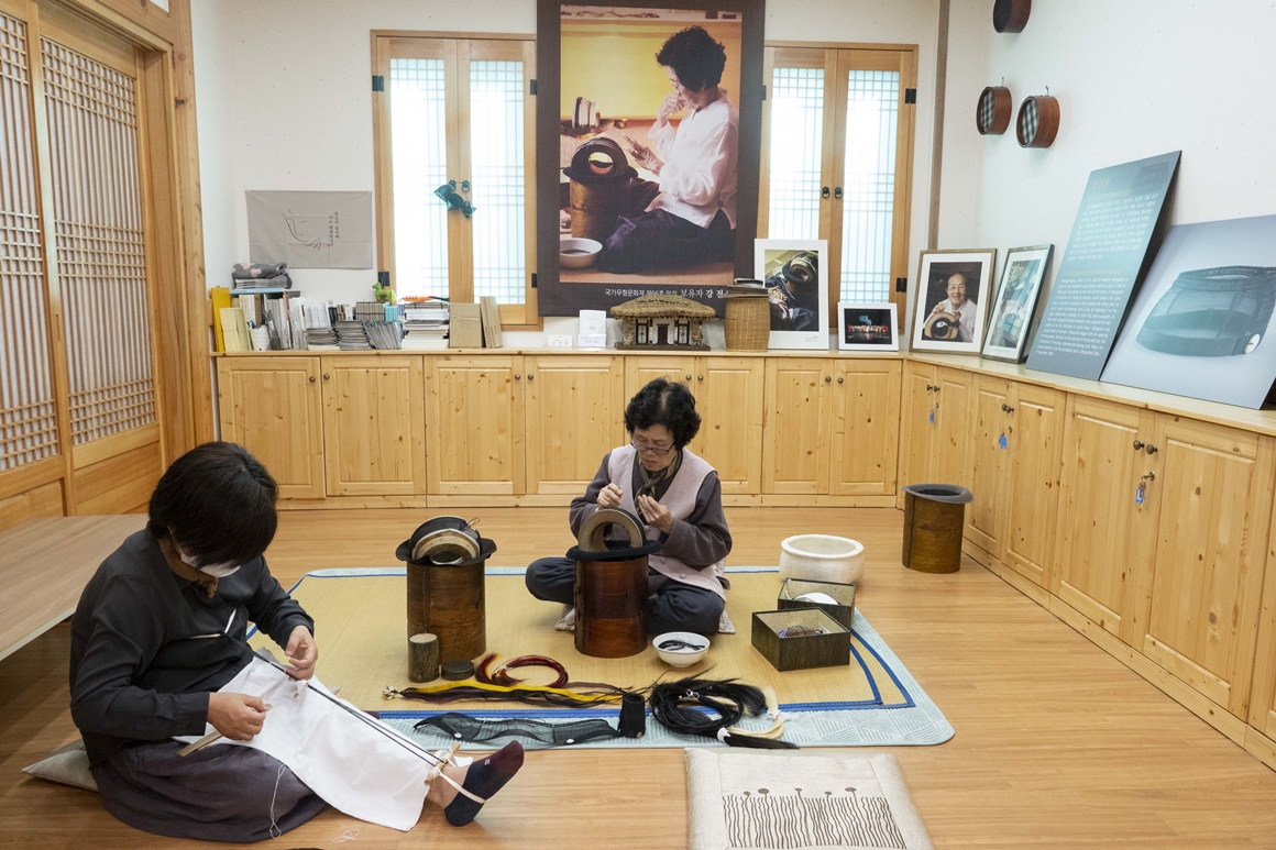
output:
[[647,648],[647,555],[575,562],[575,650],[628,659]]

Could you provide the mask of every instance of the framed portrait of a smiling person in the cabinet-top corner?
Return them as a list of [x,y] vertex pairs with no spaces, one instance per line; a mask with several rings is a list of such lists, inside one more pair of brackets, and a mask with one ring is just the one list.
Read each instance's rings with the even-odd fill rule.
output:
[[912,350],[977,355],[997,249],[921,251]]

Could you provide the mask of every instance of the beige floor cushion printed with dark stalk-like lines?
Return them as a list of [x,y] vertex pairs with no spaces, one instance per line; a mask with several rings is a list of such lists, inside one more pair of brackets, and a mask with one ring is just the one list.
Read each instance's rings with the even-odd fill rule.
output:
[[690,850],[931,850],[894,756],[686,750]]

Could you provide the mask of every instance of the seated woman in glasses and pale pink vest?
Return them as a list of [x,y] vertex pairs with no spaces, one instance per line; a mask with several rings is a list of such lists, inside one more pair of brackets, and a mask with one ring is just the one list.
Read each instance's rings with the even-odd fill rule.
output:
[[[722,513],[722,485],[686,444],[699,430],[695,399],[683,384],[651,382],[625,408],[633,442],[612,449],[584,495],[572,500],[572,533],[598,508],[623,508],[649,526],[648,539],[664,544],[648,558],[647,630],[711,636],[726,608],[722,560],[731,532]],[[575,564],[542,558],[527,568],[527,590],[536,599],[561,602],[568,627],[575,591]]]

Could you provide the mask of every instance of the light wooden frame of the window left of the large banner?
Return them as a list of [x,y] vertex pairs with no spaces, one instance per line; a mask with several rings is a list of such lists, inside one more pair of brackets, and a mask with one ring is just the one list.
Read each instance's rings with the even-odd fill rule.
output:
[[[536,304],[536,96],[531,83],[536,79],[535,33],[475,33],[415,29],[373,29],[373,75],[389,79],[390,59],[415,55],[444,60],[447,92],[447,135],[457,139],[456,149],[448,148],[448,177],[458,183],[471,179],[468,96],[471,60],[519,60],[523,63],[523,304],[501,304],[501,328],[512,331],[541,329]],[[462,74],[461,70],[466,69]],[[373,93],[373,162],[374,205],[376,208],[376,268],[394,272],[394,162],[392,151],[390,105],[387,92]],[[456,172],[456,174],[453,174]],[[480,213],[481,214],[481,213]],[[472,226],[468,218],[453,211],[448,216],[448,297],[456,304],[472,304],[473,268]],[[454,258],[467,258],[464,263]]]

